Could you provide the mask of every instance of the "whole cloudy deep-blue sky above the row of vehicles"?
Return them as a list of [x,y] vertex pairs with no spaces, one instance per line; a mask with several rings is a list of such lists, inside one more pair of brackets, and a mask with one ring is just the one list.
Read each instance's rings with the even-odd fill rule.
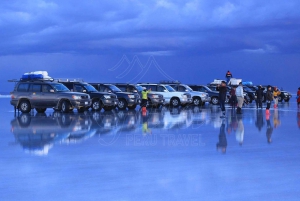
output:
[[35,70],[93,82],[194,84],[231,70],[293,92],[299,7],[298,0],[4,0],[0,91]]

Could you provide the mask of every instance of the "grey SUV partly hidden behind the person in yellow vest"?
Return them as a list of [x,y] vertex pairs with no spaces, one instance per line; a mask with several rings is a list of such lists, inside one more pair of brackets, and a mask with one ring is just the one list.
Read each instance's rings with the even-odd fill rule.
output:
[[[115,83],[119,89],[124,92],[131,92],[134,94],[138,94],[140,97],[142,96],[143,87],[137,84],[124,84],[124,83]],[[159,107],[164,104],[164,96],[158,93],[149,92],[148,93],[148,102],[147,107]]]

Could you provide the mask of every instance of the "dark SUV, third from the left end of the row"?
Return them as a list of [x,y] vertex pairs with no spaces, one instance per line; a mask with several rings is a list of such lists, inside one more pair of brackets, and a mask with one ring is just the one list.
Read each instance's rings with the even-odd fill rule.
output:
[[111,92],[117,95],[118,104],[117,107],[120,110],[126,109],[135,109],[138,104],[141,103],[140,96],[135,95],[134,93],[123,92],[121,89],[116,87],[113,84],[103,84],[103,83],[90,83],[100,92]]

